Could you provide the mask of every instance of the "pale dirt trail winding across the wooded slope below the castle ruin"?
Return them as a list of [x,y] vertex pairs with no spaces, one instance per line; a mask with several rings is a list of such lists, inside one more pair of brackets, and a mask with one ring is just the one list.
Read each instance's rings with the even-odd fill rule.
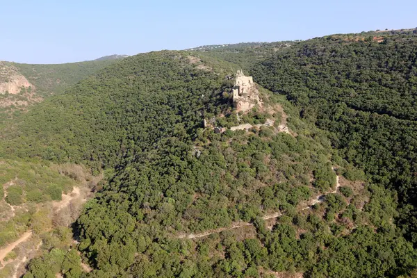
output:
[[[311,206],[313,206],[314,204],[323,202],[324,199],[325,199],[325,195],[336,193],[337,189],[340,186],[341,185],[339,183],[339,177],[336,176],[336,188],[334,190],[332,190],[331,192],[325,193],[323,195],[318,195],[317,197],[315,197],[314,199],[312,199],[310,201],[309,206],[306,206],[305,208],[302,208],[302,210],[304,211],[306,209],[311,208]],[[263,215],[262,219],[263,220],[268,220],[268,219],[272,219],[272,218],[278,218],[281,215],[282,215],[281,212],[271,213],[271,214]],[[233,224],[231,227],[222,227],[222,228],[219,228],[219,229],[204,231],[203,233],[200,233],[200,234],[181,234],[181,235],[177,236],[177,238],[187,238],[187,239],[202,238],[204,236],[210,236],[211,234],[218,234],[222,231],[230,231],[232,229],[238,229],[240,227],[245,227],[245,226],[253,226],[253,224],[251,222],[238,222],[238,223]]]

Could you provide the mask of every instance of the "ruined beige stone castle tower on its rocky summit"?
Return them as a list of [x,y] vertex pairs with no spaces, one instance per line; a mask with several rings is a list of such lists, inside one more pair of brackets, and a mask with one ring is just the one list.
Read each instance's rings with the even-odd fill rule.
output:
[[262,105],[252,76],[245,76],[241,70],[238,70],[233,88],[233,105],[236,111],[250,111],[256,104]]

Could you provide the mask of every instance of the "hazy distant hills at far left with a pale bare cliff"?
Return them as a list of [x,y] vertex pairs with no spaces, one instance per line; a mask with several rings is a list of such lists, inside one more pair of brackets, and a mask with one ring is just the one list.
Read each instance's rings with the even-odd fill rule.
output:
[[120,58],[124,56],[56,65],[0,62],[0,124],[18,117],[43,99],[62,93]]

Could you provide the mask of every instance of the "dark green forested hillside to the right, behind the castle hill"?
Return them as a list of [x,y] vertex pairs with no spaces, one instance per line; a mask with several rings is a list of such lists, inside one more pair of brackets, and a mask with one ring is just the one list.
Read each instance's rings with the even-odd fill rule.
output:
[[417,244],[417,35],[334,35],[285,49],[254,79],[286,95],[370,181],[397,191],[396,221]]

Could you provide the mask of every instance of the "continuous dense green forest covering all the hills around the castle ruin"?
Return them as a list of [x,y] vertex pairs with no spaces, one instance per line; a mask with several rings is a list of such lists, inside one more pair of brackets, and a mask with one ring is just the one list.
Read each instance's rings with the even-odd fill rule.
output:
[[[0,170],[104,180],[76,249],[55,229],[24,277],[416,275],[416,48],[406,31],[151,52],[38,104],[2,130]],[[246,112],[240,68],[259,83]],[[27,165],[58,183],[45,198],[68,190]]]

